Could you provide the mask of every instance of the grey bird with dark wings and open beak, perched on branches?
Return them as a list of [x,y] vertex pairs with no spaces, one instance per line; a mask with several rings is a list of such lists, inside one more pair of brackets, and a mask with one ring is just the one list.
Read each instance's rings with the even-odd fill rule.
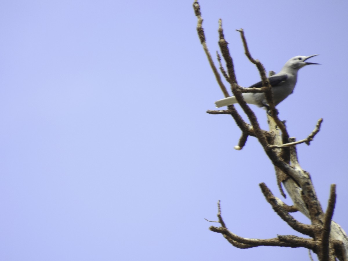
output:
[[[316,56],[317,54],[310,56],[295,56],[287,61],[280,72],[268,78],[270,85],[272,86],[273,101],[275,105],[278,105],[287,96],[292,94],[296,81],[297,72],[308,64],[320,64],[320,63],[308,63],[306,60],[310,57]],[[249,88],[260,88],[262,82],[257,82]],[[259,107],[266,107],[269,109],[264,93],[243,93],[243,98],[246,103],[255,104]],[[216,108],[227,106],[237,103],[236,97],[231,96],[215,102]]]

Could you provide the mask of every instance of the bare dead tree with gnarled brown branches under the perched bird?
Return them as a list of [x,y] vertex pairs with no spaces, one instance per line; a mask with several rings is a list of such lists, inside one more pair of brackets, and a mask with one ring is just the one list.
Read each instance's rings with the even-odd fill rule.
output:
[[[197,0],[195,0],[193,3],[193,9],[198,18],[197,32],[200,43],[203,45],[203,49],[207,55],[209,64],[211,65],[218,85],[220,86],[224,96],[229,97],[230,95],[227,88],[222,82],[220,73],[215,67],[206,45],[205,34],[202,27],[203,19],[201,17],[200,6]],[[332,221],[336,200],[336,185],[331,185],[329,204],[326,212],[324,212],[316,196],[311,177],[307,171],[304,171],[300,167],[296,152],[296,145],[302,143],[309,145],[314,136],[319,132],[323,120],[318,120],[313,132],[311,132],[306,139],[295,141],[295,138],[289,136],[285,123],[278,118],[278,112],[272,100],[272,90],[266,77],[265,69],[258,60],[254,60],[252,58],[247,47],[243,29],[237,31],[239,31],[242,37],[245,55],[248,57],[250,62],[256,65],[259,70],[263,87],[246,89],[238,85],[233,60],[227,46],[228,42],[224,38],[221,19],[219,20],[218,44],[223,60],[226,63],[226,69],[224,69],[221,62],[221,57],[218,53],[217,60],[220,65],[221,74],[230,84],[232,93],[236,97],[238,104],[246,113],[248,119],[250,120],[250,124],[244,121],[244,119],[235,109],[234,105],[229,105],[227,110],[208,110],[207,113],[230,114],[232,116],[242,131],[239,143],[237,146],[235,146],[235,149],[241,150],[244,147],[248,136],[253,136],[258,139],[264,152],[274,165],[280,192],[285,197],[285,193],[282,189],[283,185],[293,201],[293,206],[286,205],[282,200],[273,195],[266,184],[261,183],[260,188],[264,197],[281,219],[283,219],[291,228],[303,235],[309,236],[309,238],[293,235],[278,235],[276,238],[270,239],[248,239],[237,236],[227,229],[227,226],[222,219],[220,201],[218,202],[218,221],[211,221],[220,223],[220,227],[211,226],[209,229],[222,234],[223,237],[228,240],[228,242],[238,248],[251,248],[257,246],[283,246],[293,248],[304,247],[317,254],[318,259],[321,261],[334,261],[337,259],[348,261],[348,237],[345,231],[343,231],[343,229],[337,223]],[[254,112],[243,99],[242,93],[245,92],[265,93],[270,108],[268,113],[270,130],[263,130],[260,128]],[[304,224],[294,219],[290,213],[296,211],[300,211],[303,215],[307,216],[310,219],[311,224]]]

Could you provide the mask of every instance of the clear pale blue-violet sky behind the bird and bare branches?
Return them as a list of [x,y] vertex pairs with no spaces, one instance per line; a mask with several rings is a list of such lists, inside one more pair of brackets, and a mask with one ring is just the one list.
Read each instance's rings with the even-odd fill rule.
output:
[[[304,249],[240,250],[208,230],[221,200],[240,236],[298,235],[258,187],[281,197],[261,146],[250,138],[234,150],[231,117],[205,113],[223,95],[192,2],[0,3],[1,260],[308,259]],[[324,208],[337,184],[334,220],[347,231],[347,1],[199,3],[212,53],[223,19],[242,86],[259,76],[235,29],[266,70],[320,54],[277,108],[298,140],[324,118],[298,146],[300,164]]]

